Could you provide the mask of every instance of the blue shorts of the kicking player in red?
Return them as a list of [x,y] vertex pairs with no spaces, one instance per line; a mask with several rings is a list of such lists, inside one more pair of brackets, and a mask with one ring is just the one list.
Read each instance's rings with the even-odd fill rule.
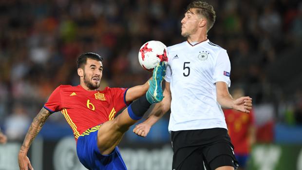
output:
[[91,128],[77,139],[76,152],[88,170],[127,170],[117,147],[109,155],[102,155],[97,148],[98,127]]

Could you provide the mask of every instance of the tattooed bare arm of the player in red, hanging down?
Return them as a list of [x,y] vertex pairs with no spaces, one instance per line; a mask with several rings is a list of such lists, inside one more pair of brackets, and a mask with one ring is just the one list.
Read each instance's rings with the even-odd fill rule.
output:
[[50,112],[42,108],[30,125],[19,151],[18,161],[20,170],[28,170],[28,167],[34,170],[26,154],[49,115]]

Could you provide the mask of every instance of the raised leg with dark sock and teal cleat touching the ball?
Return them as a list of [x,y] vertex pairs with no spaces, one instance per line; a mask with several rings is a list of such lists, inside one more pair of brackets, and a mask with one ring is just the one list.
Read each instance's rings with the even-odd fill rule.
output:
[[165,71],[166,64],[161,62],[153,71],[153,78],[150,80],[146,95],[134,101],[116,118],[100,126],[97,133],[97,146],[101,154],[110,154],[119,144],[123,134],[144,115],[150,105],[163,99],[161,84]]

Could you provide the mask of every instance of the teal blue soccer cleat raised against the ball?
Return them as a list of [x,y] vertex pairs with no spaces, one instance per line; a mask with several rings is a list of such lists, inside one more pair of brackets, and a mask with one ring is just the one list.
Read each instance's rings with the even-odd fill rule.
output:
[[146,93],[149,103],[158,103],[163,100],[162,81],[166,75],[166,62],[160,62],[153,70],[152,79],[149,80],[150,87]]

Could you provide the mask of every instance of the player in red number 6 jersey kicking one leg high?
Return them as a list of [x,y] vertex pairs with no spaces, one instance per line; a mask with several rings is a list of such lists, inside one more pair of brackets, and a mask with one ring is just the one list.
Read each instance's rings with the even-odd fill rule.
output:
[[[152,103],[163,99],[161,82],[166,65],[155,67],[153,77],[130,89],[100,91],[102,57],[85,53],[77,59],[80,85],[60,85],[34,118],[19,151],[20,170],[33,170],[27,151],[51,113],[61,111],[74,132],[80,162],[89,170],[127,170],[117,148],[123,134]],[[150,85],[149,85],[150,84]],[[144,95],[146,94],[146,95]],[[138,100],[135,100],[137,99]],[[115,113],[132,104],[114,118]]]

